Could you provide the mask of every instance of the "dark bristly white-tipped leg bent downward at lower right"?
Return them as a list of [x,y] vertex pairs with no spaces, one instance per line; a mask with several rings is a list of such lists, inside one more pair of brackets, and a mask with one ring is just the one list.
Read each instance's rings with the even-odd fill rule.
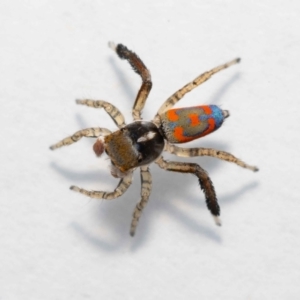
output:
[[166,171],[191,173],[196,175],[198,177],[200,187],[204,192],[207,208],[213,215],[216,224],[219,226],[221,225],[221,221],[219,219],[220,207],[218,204],[216,192],[212,181],[210,180],[208,174],[204,169],[194,163],[166,161],[162,157],[158,158],[155,163]]

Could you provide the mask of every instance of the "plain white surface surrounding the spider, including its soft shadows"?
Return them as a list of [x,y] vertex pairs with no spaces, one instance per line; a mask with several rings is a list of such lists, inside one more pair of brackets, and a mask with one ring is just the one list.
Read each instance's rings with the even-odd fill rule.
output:
[[[299,299],[299,14],[296,0],[2,0],[0,299]],[[211,175],[222,227],[195,177],[156,165],[134,238],[138,172],[110,202],[68,189],[117,184],[91,140],[49,150],[85,127],[115,129],[75,98],[110,101],[130,122],[140,78],[108,41],[149,67],[148,120],[200,73],[242,58],[177,105],[228,109],[219,131],[189,145],[260,168],[189,160]]]

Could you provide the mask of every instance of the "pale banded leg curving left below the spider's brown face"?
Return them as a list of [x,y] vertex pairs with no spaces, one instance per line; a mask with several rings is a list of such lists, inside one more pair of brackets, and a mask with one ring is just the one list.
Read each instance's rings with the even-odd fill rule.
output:
[[132,182],[132,172],[127,174],[125,177],[123,177],[120,181],[118,186],[114,189],[113,192],[104,192],[104,191],[88,191],[85,189],[81,189],[77,186],[72,185],[70,189],[72,191],[81,193],[83,195],[86,195],[91,198],[97,198],[97,199],[105,199],[105,200],[112,200],[115,198],[118,198],[122,196],[127,189],[130,187]]

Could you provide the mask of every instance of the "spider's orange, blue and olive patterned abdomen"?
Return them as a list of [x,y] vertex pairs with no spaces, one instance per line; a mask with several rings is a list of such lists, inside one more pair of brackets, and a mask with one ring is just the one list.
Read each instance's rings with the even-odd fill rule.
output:
[[160,115],[161,129],[170,143],[186,143],[217,130],[228,116],[216,105],[175,108]]

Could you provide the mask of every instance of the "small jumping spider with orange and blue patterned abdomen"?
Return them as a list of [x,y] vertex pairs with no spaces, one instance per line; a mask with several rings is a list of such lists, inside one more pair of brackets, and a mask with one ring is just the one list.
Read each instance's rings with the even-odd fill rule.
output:
[[227,110],[222,110],[216,105],[175,109],[172,109],[172,107],[186,93],[207,81],[213,74],[239,63],[240,59],[234,59],[201,74],[170,96],[161,105],[152,121],[142,121],[141,112],[152,87],[150,71],[137,54],[126,46],[122,44],[115,45],[111,42],[109,46],[117,53],[119,58],[127,60],[142,79],[142,85],[132,109],[134,122],[127,125],[122,113],[109,102],[90,99],[76,100],[77,104],[104,108],[119,129],[114,132],[103,127],[83,129],[52,145],[50,149],[55,150],[62,146],[71,145],[82,137],[97,138],[94,152],[97,156],[100,156],[104,151],[106,152],[111,160],[111,174],[120,178],[120,181],[112,192],[88,191],[77,186],[71,186],[70,189],[91,198],[115,199],[127,191],[131,185],[134,170],[140,168],[141,199],[135,207],[130,227],[130,235],[134,236],[140,216],[151,193],[152,177],[149,164],[154,162],[166,171],[194,174],[204,192],[207,208],[214,217],[216,224],[221,225],[219,219],[220,207],[208,173],[196,163],[167,161],[161,154],[163,151],[167,151],[181,157],[212,156],[235,163],[254,172],[258,171],[257,167],[250,166],[225,151],[211,148],[181,148],[174,145],[186,143],[212,133],[220,128],[225,118],[229,117]]

